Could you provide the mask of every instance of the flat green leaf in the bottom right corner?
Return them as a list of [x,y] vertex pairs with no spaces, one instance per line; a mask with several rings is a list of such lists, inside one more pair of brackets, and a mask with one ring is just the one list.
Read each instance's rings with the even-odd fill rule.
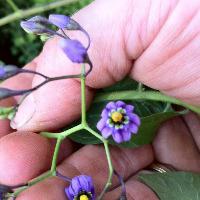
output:
[[160,200],[200,200],[200,174],[167,172],[140,175]]

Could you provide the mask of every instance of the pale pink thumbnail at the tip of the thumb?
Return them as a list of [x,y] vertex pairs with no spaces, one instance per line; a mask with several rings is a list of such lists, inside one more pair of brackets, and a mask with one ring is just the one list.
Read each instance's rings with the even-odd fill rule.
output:
[[15,117],[11,120],[10,126],[13,129],[19,129],[29,123],[36,111],[36,104],[32,94],[27,96],[19,106]]

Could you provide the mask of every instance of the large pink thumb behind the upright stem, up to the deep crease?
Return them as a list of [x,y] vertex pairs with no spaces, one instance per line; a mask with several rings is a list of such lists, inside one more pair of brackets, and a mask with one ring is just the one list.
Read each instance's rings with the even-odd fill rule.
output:
[[[160,26],[157,27],[159,23],[155,23],[156,27],[150,28],[144,47],[138,34],[143,34],[145,30],[148,19],[146,13],[150,8],[149,1],[134,3],[129,0],[94,1],[74,16],[89,32],[92,40],[89,56],[94,69],[87,78],[87,85],[90,88],[109,86],[123,79],[130,72],[133,60],[142,54],[156,36],[154,29],[158,31],[171,12],[170,8],[174,4],[172,5],[171,1],[167,2],[169,3],[165,3],[162,8],[163,17],[159,21]],[[155,7],[156,3],[153,2],[153,5]],[[109,9],[110,7],[112,10]],[[141,10],[143,12],[138,12]],[[152,11],[152,15],[155,13],[156,15],[153,16],[159,18],[159,7],[155,7],[155,11],[157,12]],[[121,15],[118,17],[119,13]],[[115,23],[116,18],[118,23]],[[155,18],[152,17],[152,19]],[[142,30],[141,24],[144,24]],[[75,35],[82,40],[82,36],[73,33],[73,36]],[[80,71],[80,66],[72,64],[67,59],[59,48],[58,42],[59,39],[54,38],[46,43],[38,58],[37,70],[49,76]],[[41,80],[34,78],[33,82],[33,85],[37,85]],[[93,94],[89,87],[87,89],[88,105]],[[32,100],[30,98],[29,101],[25,101],[19,109],[12,127],[29,131],[53,130],[65,126],[79,116],[80,83],[75,80],[58,81],[34,92]]]

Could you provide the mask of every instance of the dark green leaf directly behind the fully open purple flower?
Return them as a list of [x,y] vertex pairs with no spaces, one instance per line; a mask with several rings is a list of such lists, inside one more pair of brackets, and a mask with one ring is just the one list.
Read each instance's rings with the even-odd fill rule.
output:
[[[99,94],[106,94],[107,92],[115,92],[115,100],[120,100],[118,97],[117,91],[126,91],[129,89],[137,89],[138,83],[131,80],[125,79],[116,85],[99,90],[97,92],[97,96]],[[133,92],[135,90],[132,90]],[[149,90],[148,90],[149,91]],[[98,132],[96,129],[96,124],[100,120],[100,115],[103,108],[110,100],[101,99],[101,101],[94,101],[91,105],[89,111],[87,112],[87,121],[89,126]],[[184,114],[184,112],[177,112],[173,110],[171,106],[169,106],[166,102],[160,101],[152,101],[152,100],[142,100],[142,99],[131,99],[128,98],[125,101],[128,104],[134,105],[134,112],[137,113],[141,118],[141,126],[139,128],[138,134],[133,135],[131,141],[122,143],[120,146],[123,147],[136,147],[139,145],[149,144],[153,141],[153,138],[156,135],[156,131],[159,128],[160,124],[172,117],[179,116]],[[167,108],[167,109],[166,109]],[[101,143],[100,140],[95,138],[93,135],[88,133],[87,131],[80,131],[70,136],[70,138],[81,144],[98,144]],[[110,144],[117,145],[112,138],[109,139]]]

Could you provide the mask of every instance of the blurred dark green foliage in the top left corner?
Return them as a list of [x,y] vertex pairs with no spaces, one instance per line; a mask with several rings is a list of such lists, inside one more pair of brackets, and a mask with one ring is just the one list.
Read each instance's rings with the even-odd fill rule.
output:
[[[12,0],[19,9],[28,9],[35,6],[45,5],[56,0]],[[59,0],[57,0],[59,1]],[[89,4],[92,0],[79,0],[48,12],[37,15],[48,16],[49,13],[71,15],[77,10]],[[0,18],[3,18],[14,11],[6,0],[0,1]],[[0,26],[0,60],[5,64],[23,66],[32,60],[41,50],[43,42],[39,37],[24,32],[19,25],[19,20]]]

